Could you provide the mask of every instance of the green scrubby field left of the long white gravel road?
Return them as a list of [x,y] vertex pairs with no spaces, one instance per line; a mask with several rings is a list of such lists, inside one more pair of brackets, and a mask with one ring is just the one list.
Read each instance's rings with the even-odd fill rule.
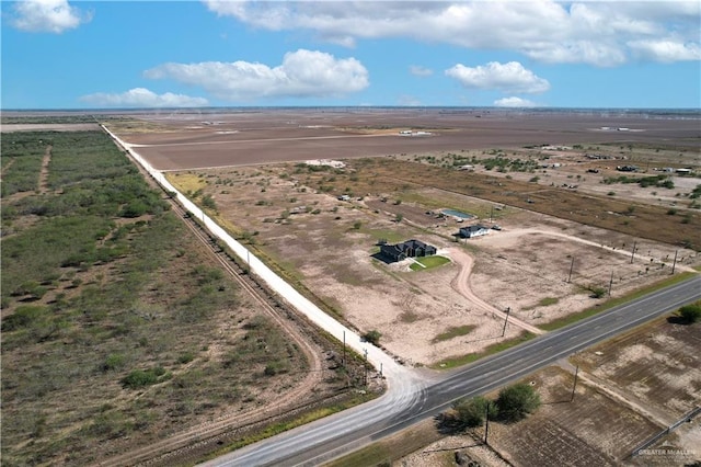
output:
[[158,457],[222,422],[240,443],[356,398],[299,335],[334,345],[264,312],[102,132],[3,133],[1,247],[3,465]]

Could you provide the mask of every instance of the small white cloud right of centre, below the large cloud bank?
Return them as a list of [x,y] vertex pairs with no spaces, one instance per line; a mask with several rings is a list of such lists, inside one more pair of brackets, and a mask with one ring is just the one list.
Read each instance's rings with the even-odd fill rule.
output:
[[548,80],[539,78],[518,61],[490,61],[474,68],[458,64],[447,69],[446,75],[457,79],[466,88],[526,93],[540,93],[550,89]]

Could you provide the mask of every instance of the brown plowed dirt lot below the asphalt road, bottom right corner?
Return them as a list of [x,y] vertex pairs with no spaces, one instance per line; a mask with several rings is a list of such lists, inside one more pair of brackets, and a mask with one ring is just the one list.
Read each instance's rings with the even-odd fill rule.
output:
[[393,465],[456,465],[456,452],[485,466],[691,465],[701,459],[698,417],[641,455],[631,453],[698,406],[700,345],[698,328],[657,320],[572,358],[579,365],[574,401],[573,368],[545,368],[528,379],[541,396],[541,408],[513,425],[491,423],[490,446],[483,443],[484,429],[476,429],[444,437]]

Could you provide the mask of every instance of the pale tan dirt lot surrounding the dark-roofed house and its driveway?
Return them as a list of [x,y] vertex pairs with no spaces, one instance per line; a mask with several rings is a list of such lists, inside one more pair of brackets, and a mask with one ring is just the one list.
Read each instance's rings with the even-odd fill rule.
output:
[[[182,186],[205,186],[220,218],[235,226],[230,227],[234,235],[253,238],[258,252],[297,271],[323,304],[361,332],[379,330],[382,345],[413,364],[435,364],[498,342],[507,307],[513,320],[505,338],[515,338],[524,330],[516,320],[542,324],[601,303],[589,298],[586,287],[608,285],[611,271],[613,296],[664,278],[669,267],[660,261],[675,252],[670,246],[513,207],[495,214],[504,230],[458,243],[452,235],[461,224],[427,215],[426,205],[443,201],[484,212],[483,202],[458,194],[445,197],[430,189],[402,193],[425,202],[421,205],[382,202],[377,196],[341,202],[303,183],[307,171],[276,164],[197,170],[171,174],[171,180]],[[333,176],[327,173],[326,180]],[[404,216],[399,225],[393,221],[397,214]],[[386,264],[374,259],[375,244],[382,238],[390,242],[418,238],[453,260],[460,251],[470,254],[475,265],[466,285],[481,300],[471,300],[455,286],[461,269],[455,261],[413,272],[411,261]],[[634,241],[637,255],[631,264],[624,248]],[[566,282],[572,257],[575,266]],[[681,257],[679,270],[701,261],[692,251],[685,250]],[[474,329],[468,335],[437,340],[463,326]]]

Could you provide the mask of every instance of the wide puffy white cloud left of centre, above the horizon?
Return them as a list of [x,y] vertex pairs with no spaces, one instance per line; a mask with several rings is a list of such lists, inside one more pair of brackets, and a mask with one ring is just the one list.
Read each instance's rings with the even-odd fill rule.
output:
[[367,69],[355,58],[337,59],[304,49],[285,54],[283,64],[274,68],[249,61],[203,61],[163,64],[143,75],[202,87],[227,101],[335,96],[361,91],[369,84]]

